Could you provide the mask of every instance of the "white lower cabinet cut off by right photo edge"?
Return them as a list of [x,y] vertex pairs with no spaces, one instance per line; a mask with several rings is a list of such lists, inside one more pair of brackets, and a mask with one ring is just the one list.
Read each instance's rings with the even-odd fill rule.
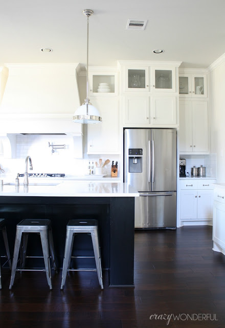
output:
[[225,189],[214,189],[213,250],[225,254]]

